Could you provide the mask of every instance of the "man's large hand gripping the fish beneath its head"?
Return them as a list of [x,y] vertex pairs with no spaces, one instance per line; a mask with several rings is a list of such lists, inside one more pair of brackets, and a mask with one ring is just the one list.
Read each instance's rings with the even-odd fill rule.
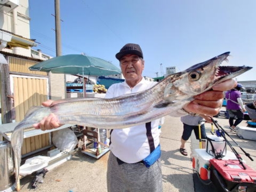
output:
[[217,115],[222,107],[224,91],[233,89],[237,82],[233,79],[226,80],[212,87],[212,90],[195,96],[195,100],[184,106],[184,110],[196,114]]

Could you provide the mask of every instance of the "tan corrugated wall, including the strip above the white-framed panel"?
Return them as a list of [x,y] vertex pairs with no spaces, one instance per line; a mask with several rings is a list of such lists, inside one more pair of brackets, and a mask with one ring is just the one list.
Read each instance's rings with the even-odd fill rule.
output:
[[[46,72],[30,71],[29,67],[35,65],[36,61],[9,57],[10,73],[24,73],[41,75],[46,77],[35,77],[25,75],[10,75],[11,90],[14,96],[15,121],[24,119],[26,112],[31,106],[41,105],[49,99],[49,80]],[[24,139],[22,155],[28,154],[42,147],[50,145],[49,133],[41,134]]]

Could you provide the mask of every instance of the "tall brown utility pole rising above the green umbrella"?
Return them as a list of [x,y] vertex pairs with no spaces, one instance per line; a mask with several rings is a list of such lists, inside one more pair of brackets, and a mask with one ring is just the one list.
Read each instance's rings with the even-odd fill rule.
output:
[[55,0],[55,39],[56,39],[56,56],[61,53],[61,32],[60,32],[60,8],[59,0]]

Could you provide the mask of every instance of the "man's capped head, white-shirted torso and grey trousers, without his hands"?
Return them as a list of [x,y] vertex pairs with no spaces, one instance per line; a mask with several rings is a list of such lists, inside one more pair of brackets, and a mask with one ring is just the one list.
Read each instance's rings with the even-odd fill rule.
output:
[[[156,84],[142,77],[144,60],[139,45],[126,44],[116,58],[125,81],[113,84],[105,98],[144,91]],[[142,163],[154,150],[160,154],[159,123],[160,120],[155,120],[111,132],[108,191],[162,191],[160,158],[148,168]]]

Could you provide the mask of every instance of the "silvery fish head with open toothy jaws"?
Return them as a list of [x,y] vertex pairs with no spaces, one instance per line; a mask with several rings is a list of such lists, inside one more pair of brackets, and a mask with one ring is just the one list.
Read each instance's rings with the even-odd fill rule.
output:
[[246,66],[220,66],[223,61],[227,61],[229,53],[223,53],[173,76],[170,75],[170,83],[167,84],[164,90],[164,100],[168,102],[184,99],[193,100],[195,95],[210,90],[215,84],[251,69],[251,67]]

